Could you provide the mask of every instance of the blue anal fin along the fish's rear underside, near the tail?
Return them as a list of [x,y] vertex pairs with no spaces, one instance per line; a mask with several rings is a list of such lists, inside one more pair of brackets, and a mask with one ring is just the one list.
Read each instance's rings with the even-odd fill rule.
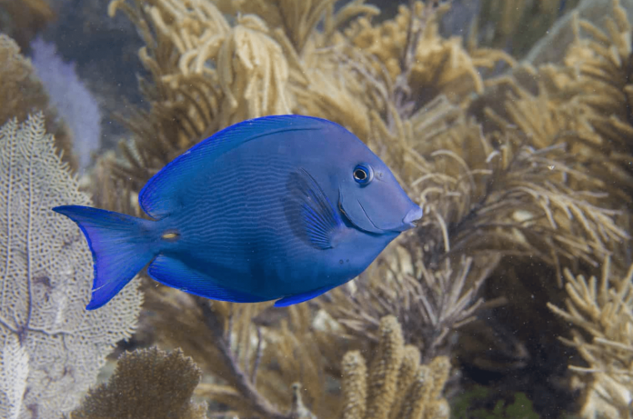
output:
[[178,259],[160,254],[147,268],[155,281],[189,294],[200,295],[218,301],[233,303],[258,303],[266,301],[257,295],[226,288],[216,279],[200,273]]

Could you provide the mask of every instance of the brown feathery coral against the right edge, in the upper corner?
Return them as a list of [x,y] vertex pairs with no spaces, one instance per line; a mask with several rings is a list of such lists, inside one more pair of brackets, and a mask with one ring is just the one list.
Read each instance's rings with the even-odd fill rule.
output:
[[[608,33],[575,16],[576,41],[563,65],[528,69],[537,93],[510,81],[509,100],[501,101],[501,109],[488,110],[487,117],[497,120],[504,132],[507,121],[517,125],[541,147],[566,143],[568,153],[577,156],[577,174],[583,175],[580,185],[572,184],[574,188],[592,181],[609,195],[630,200],[631,26],[618,1],[612,2],[612,9],[613,17],[606,21]],[[497,113],[505,120],[498,120]]]

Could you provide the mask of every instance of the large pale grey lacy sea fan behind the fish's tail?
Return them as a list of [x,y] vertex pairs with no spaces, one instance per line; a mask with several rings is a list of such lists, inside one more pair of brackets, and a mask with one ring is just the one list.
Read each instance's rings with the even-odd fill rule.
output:
[[[0,342],[3,406],[13,417],[61,417],[95,381],[140,310],[136,286],[85,311],[92,257],[55,205],[90,205],[45,133],[42,114],[0,129]],[[137,283],[136,283],[137,284]],[[13,388],[5,384],[15,383]]]

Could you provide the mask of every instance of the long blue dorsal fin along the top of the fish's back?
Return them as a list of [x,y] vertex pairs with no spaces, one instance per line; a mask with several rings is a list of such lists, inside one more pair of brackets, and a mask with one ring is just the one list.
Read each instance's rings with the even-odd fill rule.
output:
[[179,187],[202,168],[212,165],[217,156],[266,135],[317,130],[323,129],[324,125],[333,124],[326,119],[312,116],[271,115],[228,126],[168,163],[147,182],[138,196],[138,203],[146,214],[162,218],[170,213]]

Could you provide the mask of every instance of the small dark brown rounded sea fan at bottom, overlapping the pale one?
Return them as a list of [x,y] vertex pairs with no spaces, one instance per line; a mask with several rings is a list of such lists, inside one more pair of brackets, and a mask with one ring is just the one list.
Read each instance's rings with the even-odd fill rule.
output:
[[71,417],[204,419],[206,405],[191,401],[201,376],[182,351],[137,349],[121,355],[108,382],[90,389]]

